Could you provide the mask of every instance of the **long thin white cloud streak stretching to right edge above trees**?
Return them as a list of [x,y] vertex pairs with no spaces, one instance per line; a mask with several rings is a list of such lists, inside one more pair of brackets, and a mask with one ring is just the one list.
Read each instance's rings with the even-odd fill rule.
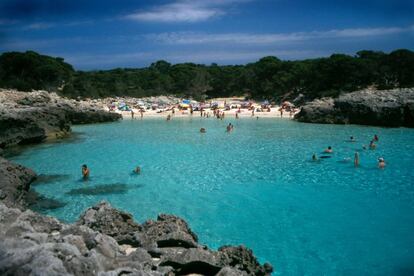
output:
[[392,34],[412,32],[413,26],[406,28],[389,27],[389,28],[355,28],[329,31],[313,31],[313,32],[294,32],[279,34],[250,34],[250,33],[224,33],[224,34],[208,34],[208,33],[161,33],[150,34],[147,38],[160,43],[166,44],[245,44],[245,45],[269,45],[277,43],[287,43],[295,41],[304,41],[322,38],[359,38],[372,36],[386,36]]

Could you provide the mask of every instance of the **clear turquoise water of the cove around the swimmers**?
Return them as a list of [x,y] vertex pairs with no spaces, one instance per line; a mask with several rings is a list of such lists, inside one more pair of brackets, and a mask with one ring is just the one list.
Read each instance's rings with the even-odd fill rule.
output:
[[[44,211],[65,221],[105,199],[141,222],[182,216],[212,248],[245,244],[275,275],[413,275],[414,130],[242,119],[226,133],[228,122],[76,126],[76,138],[12,159],[52,175],[34,187],[66,203]],[[362,150],[374,134],[378,148]],[[357,142],[346,141],[351,135]],[[329,145],[332,158],[310,161]],[[344,161],[356,150],[357,169]],[[131,175],[137,164],[142,174]]]

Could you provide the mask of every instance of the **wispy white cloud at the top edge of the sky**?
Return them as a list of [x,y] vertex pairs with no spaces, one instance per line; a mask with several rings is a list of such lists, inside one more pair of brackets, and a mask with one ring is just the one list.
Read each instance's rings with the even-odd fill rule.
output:
[[137,11],[125,16],[126,19],[149,22],[199,22],[226,14],[223,6],[250,0],[178,0],[171,4]]

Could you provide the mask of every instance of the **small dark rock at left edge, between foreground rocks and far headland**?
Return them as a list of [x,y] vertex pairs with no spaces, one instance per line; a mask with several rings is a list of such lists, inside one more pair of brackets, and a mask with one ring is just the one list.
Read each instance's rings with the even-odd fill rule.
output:
[[35,179],[32,170],[0,157],[0,200],[7,206],[23,208],[30,183]]

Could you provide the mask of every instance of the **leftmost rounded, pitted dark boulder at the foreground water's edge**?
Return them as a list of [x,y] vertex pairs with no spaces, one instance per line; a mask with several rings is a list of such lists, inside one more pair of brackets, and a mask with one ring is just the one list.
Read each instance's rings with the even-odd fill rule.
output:
[[93,230],[113,237],[119,244],[140,246],[141,241],[136,232],[142,227],[133,221],[132,215],[118,211],[107,202],[89,208],[81,215],[78,225],[85,225]]

